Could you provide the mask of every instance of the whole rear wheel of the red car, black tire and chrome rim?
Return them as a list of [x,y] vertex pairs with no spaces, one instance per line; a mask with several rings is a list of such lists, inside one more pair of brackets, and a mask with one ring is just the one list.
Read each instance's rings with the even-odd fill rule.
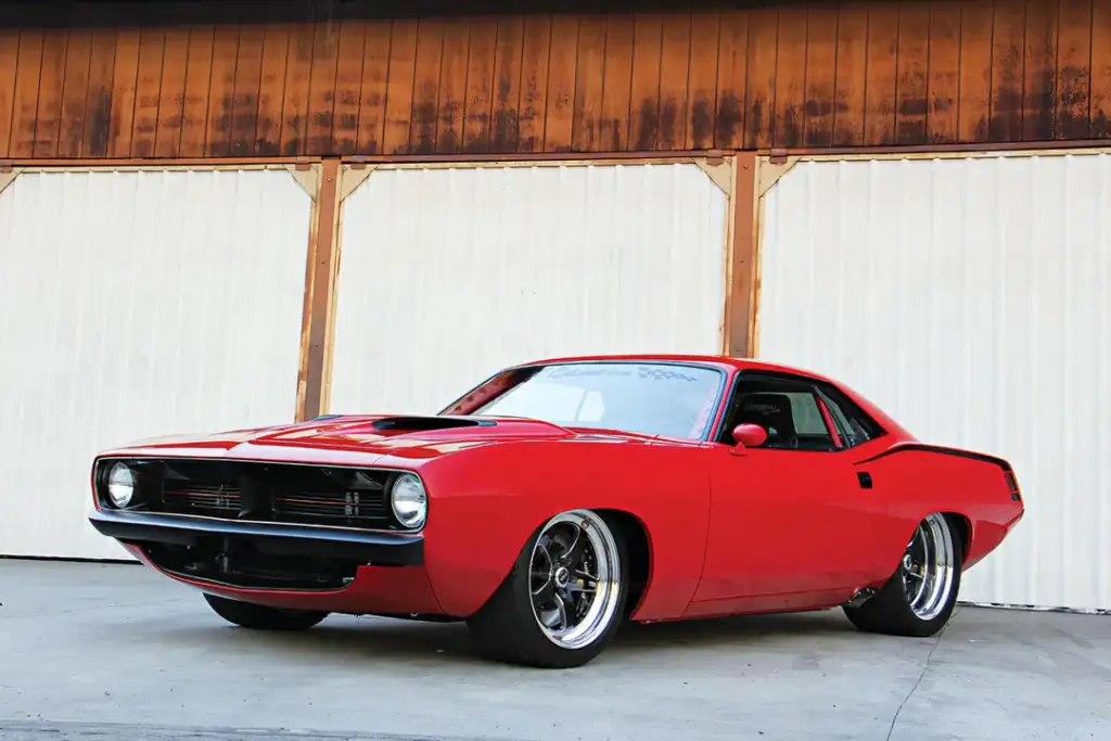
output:
[[845,614],[869,632],[933,635],[957,607],[962,553],[952,523],[943,514],[929,515],[914,531],[891,579],[860,607],[845,607]]

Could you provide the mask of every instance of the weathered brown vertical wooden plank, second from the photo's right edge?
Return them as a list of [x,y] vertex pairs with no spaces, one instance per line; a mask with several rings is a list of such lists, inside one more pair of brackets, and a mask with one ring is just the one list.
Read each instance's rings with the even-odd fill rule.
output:
[[1092,0],[1061,0],[1054,139],[1087,139],[1092,59]]

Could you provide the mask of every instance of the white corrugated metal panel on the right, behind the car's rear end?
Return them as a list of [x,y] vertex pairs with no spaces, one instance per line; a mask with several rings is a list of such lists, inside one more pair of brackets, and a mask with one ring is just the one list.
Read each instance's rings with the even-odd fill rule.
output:
[[1012,461],[962,599],[1111,609],[1111,157],[803,162],[768,193],[760,356]]

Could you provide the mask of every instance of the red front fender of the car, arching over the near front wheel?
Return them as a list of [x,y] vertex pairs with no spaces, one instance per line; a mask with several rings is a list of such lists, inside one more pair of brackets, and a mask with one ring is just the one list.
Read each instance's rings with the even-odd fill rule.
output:
[[710,515],[708,451],[695,444],[520,441],[439,458],[426,564],[444,611],[467,617],[509,574],[529,538],[569,509],[620,510],[647,531],[649,582],[638,619],[678,618],[694,594]]

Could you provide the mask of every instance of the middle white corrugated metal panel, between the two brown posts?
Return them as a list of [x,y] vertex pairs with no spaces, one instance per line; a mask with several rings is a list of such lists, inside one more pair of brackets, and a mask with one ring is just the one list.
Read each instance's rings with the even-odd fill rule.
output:
[[434,412],[547,356],[719,352],[725,203],[694,164],[376,171],[343,207],[330,409]]

